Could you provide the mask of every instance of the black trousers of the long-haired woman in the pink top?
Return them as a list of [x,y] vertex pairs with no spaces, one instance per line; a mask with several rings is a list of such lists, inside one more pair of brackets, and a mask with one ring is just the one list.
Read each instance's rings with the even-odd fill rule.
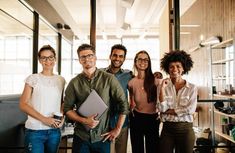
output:
[[160,124],[157,114],[145,114],[137,111],[134,111],[133,114],[130,114],[132,153],[157,153]]

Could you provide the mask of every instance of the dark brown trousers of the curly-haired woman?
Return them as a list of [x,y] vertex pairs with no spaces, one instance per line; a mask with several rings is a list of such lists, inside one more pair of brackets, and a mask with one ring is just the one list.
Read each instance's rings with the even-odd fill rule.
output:
[[188,122],[164,122],[160,137],[161,153],[192,153],[195,134]]

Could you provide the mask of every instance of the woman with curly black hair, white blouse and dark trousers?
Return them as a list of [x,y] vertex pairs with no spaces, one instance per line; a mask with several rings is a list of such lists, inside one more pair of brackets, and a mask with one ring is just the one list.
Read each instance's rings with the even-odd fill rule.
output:
[[192,153],[195,135],[193,113],[197,106],[197,88],[182,78],[193,67],[185,51],[171,51],[161,59],[161,68],[169,78],[159,88],[159,109],[163,121],[160,137],[162,153]]

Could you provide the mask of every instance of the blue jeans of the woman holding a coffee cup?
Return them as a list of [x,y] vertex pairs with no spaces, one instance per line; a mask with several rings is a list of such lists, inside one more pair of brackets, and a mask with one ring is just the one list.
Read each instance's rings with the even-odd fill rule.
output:
[[57,153],[60,137],[60,129],[26,129],[25,151],[26,153]]

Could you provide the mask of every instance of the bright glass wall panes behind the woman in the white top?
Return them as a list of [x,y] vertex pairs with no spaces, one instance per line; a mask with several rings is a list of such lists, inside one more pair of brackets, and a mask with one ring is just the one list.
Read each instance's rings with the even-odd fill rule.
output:
[[[33,9],[18,0],[0,1],[0,96],[20,94],[33,69]],[[20,13],[19,13],[20,12]],[[58,31],[39,15],[38,49],[51,45],[57,54]],[[67,82],[72,75],[72,44],[62,35],[61,73]],[[42,70],[38,64],[38,72]],[[54,70],[58,73],[58,62]]]

